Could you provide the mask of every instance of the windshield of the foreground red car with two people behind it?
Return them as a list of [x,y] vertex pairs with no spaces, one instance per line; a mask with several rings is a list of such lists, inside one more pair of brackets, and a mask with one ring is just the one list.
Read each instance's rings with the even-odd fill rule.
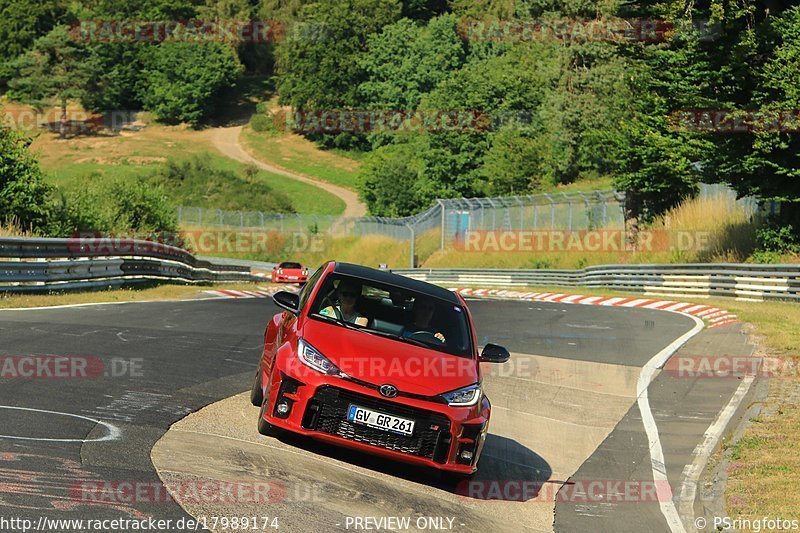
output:
[[333,274],[309,315],[396,342],[471,357],[466,311],[440,298],[370,280]]

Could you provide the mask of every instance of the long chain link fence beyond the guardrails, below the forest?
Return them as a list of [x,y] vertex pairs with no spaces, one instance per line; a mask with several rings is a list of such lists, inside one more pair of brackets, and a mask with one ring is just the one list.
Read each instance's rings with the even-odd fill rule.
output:
[[[723,197],[731,208],[742,206],[752,215],[775,213],[774,202],[737,198],[725,185],[705,185],[701,197]],[[441,250],[463,242],[468,232],[517,230],[623,230],[624,193],[614,190],[563,192],[498,198],[452,198],[405,218],[342,217],[333,215],[280,214],[258,211],[225,211],[200,207],[178,207],[182,227],[229,230],[274,231],[286,235],[322,234],[329,237],[383,236],[410,241],[411,264],[415,245],[426,236]]]

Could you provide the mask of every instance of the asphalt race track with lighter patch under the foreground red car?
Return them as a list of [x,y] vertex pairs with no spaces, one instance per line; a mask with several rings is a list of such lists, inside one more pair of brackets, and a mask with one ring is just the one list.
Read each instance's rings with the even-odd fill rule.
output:
[[[637,377],[695,321],[647,309],[469,305],[479,343],[503,344],[513,355],[512,366],[486,377],[490,437],[472,482],[478,484],[467,487],[338,448],[257,435],[258,409],[240,393],[250,388],[266,321],[276,312],[269,299],[0,311],[0,357],[17,365],[0,379],[0,520],[154,517],[174,524],[245,509],[201,498],[184,502],[190,515],[165,497],[162,478],[184,487],[211,478],[281,487],[259,516],[277,517],[282,531],[367,530],[356,517],[395,515],[412,517],[412,530],[668,530],[657,501],[586,505],[556,498],[573,479],[653,480]],[[704,331],[684,349],[738,346],[747,354],[743,339],[738,325],[726,326]],[[75,375],[9,373],[29,369],[22,361],[30,356],[71,358]],[[736,381],[698,384],[662,373],[651,385],[673,492],[680,492],[692,451]],[[525,480],[539,490],[509,490]],[[694,501],[683,507],[702,512]],[[420,516],[452,520],[419,528]],[[76,528],[50,523],[46,530]]]

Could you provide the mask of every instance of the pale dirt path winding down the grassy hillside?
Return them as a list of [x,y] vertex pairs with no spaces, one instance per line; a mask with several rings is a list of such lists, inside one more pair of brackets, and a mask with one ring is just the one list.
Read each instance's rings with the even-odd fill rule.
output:
[[360,217],[367,214],[366,206],[358,199],[358,194],[350,189],[339,187],[325,181],[317,180],[309,176],[297,174],[281,167],[260,161],[250,155],[239,142],[239,134],[242,132],[241,126],[231,128],[217,128],[211,133],[211,141],[214,146],[226,157],[241,161],[242,163],[252,163],[273,174],[286,176],[319,187],[329,193],[338,196],[345,203],[344,216]]

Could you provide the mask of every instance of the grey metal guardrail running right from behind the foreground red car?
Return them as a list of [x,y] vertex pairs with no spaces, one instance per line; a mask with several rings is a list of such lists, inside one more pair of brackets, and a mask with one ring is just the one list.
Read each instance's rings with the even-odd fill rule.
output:
[[800,301],[800,265],[730,263],[602,265],[582,270],[392,269],[439,285],[598,287],[647,296]]

